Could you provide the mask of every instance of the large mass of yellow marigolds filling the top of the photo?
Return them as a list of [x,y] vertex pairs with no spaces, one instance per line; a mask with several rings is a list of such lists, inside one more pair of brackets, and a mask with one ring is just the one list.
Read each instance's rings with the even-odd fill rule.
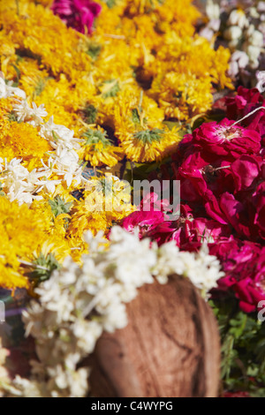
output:
[[[85,138],[79,155],[92,166],[111,167],[125,156],[159,161],[182,136],[163,121],[174,118],[185,127],[210,109],[213,84],[232,87],[229,52],[194,34],[199,13],[190,3],[100,2],[96,30],[87,37],[42,4],[19,0],[18,14],[9,0],[0,18],[2,71],[32,102],[44,104],[55,123]],[[88,25],[90,31],[100,6],[86,4],[80,19],[87,23],[79,22],[82,1],[56,1],[52,10],[68,26],[81,25],[82,32]]]

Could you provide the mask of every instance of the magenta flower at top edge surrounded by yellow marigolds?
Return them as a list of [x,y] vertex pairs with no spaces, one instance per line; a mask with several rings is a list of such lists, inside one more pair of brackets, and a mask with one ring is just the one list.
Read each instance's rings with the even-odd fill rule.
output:
[[101,12],[102,6],[91,0],[55,0],[51,10],[68,27],[82,34],[91,34],[94,19]]

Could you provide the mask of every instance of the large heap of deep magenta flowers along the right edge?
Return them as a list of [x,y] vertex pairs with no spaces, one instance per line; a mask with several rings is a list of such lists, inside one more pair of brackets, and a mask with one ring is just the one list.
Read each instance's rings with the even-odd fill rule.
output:
[[[226,103],[233,120],[265,106],[257,89],[242,87]],[[214,294],[234,292],[250,313],[265,300],[265,111],[233,120],[201,124],[180,142],[170,168],[161,169],[160,178],[180,181],[177,220],[167,221],[167,200],[151,193],[124,227],[139,226],[140,238],[174,240],[190,252],[208,242],[225,272]]]

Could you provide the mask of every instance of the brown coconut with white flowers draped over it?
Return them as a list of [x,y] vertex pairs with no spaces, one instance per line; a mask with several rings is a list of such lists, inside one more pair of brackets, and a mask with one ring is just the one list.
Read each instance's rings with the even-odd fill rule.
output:
[[103,334],[89,359],[92,396],[217,396],[216,319],[187,278],[147,284],[126,308],[128,325]]

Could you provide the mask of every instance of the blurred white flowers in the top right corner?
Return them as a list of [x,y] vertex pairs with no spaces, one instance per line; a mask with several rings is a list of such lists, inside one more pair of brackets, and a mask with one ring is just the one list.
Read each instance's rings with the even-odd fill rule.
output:
[[234,77],[246,67],[257,69],[264,54],[265,2],[254,0],[245,3],[223,1],[220,7],[208,0],[208,23],[200,32],[209,41],[215,34],[223,34],[232,52],[230,75]]

